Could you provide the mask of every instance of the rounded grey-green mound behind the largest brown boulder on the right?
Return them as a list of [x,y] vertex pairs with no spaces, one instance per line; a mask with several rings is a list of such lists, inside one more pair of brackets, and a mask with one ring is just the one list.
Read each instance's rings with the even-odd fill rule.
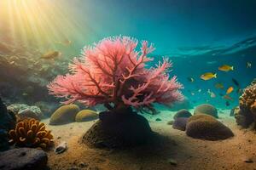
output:
[[206,115],[210,115],[218,118],[217,109],[213,105],[209,105],[209,104],[198,105],[195,108],[195,112],[194,112],[194,115],[197,115],[197,114],[206,114]]

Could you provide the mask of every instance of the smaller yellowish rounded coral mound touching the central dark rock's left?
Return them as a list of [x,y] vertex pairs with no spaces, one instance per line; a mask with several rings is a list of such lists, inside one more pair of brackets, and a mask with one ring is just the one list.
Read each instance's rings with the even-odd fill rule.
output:
[[98,118],[96,111],[82,110],[76,115],[76,122],[87,122]]

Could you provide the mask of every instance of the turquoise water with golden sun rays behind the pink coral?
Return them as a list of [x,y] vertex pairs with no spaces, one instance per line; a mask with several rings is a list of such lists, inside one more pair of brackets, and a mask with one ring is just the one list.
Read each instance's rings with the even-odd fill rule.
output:
[[[2,95],[6,99],[12,96],[10,100],[15,102],[34,103],[40,100],[42,93],[24,91],[31,82],[35,83],[32,86],[42,88],[44,99],[55,100],[47,94],[47,83],[56,75],[66,73],[68,63],[80,54],[84,46],[104,37],[119,35],[153,42],[156,49],[150,55],[155,63],[162,56],[172,59],[171,75],[176,75],[183,83],[183,94],[191,105],[207,102],[231,109],[238,105],[240,94],[236,91],[245,88],[255,78],[255,1],[74,0],[71,3],[67,0],[46,0],[44,3],[27,1],[19,4],[15,0],[3,0],[1,3],[4,10],[0,16],[4,24],[0,26],[0,38],[10,48],[22,48],[24,58],[20,63],[15,61],[21,70],[26,65],[31,67],[23,77],[18,74],[20,70],[15,70],[17,66],[15,69],[12,66],[6,68],[2,63],[2,72],[10,69],[16,75],[10,78],[4,74]],[[7,3],[9,5],[4,6]],[[18,12],[15,13],[14,9]],[[65,40],[71,42],[68,47],[61,44]],[[41,65],[32,66],[49,50],[61,52],[61,58],[54,62],[39,60]],[[1,54],[7,59],[12,55],[21,56],[4,51]],[[247,68],[247,62],[252,65],[250,68]],[[232,65],[235,69],[218,71],[220,65]],[[38,70],[38,76],[33,75]],[[217,78],[201,80],[205,72],[217,73]],[[191,77],[194,82],[189,82]],[[239,86],[232,82],[232,78],[239,82]],[[16,84],[19,81],[22,82],[21,87],[9,86],[9,82]],[[218,82],[224,85],[224,89],[214,87]],[[232,99],[223,99],[230,87],[235,88],[230,94]],[[207,93],[208,89],[216,97],[212,98]]]

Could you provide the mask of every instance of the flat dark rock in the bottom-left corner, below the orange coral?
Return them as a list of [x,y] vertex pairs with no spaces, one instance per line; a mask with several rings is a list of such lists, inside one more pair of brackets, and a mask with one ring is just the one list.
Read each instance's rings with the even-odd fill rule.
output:
[[43,150],[20,148],[0,153],[2,170],[44,170],[47,154]]

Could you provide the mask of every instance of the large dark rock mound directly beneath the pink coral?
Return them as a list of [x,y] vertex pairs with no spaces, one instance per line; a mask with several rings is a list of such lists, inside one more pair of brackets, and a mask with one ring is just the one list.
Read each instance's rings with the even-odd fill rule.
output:
[[125,148],[146,144],[154,136],[148,121],[136,112],[103,111],[84,134],[82,143],[96,148]]

